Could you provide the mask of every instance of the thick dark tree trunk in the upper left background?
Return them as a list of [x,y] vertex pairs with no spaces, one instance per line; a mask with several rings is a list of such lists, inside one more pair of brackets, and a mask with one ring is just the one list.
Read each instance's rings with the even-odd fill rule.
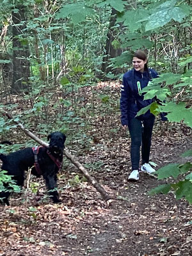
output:
[[[27,40],[24,40],[22,30],[25,28],[22,22],[26,20],[24,6],[16,7],[19,11],[12,12],[13,20],[13,81],[12,93],[20,93],[28,88],[29,78],[29,48]],[[22,41],[22,40],[23,41]],[[22,43],[23,42],[23,43]]]

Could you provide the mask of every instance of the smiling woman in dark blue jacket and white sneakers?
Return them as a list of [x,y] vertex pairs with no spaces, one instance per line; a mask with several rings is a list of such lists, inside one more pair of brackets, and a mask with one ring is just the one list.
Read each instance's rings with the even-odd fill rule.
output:
[[142,88],[148,85],[148,82],[158,76],[155,70],[147,67],[147,56],[143,51],[134,52],[132,58],[132,70],[124,74],[121,85],[121,121],[124,129],[129,128],[131,135],[131,164],[132,172],[128,180],[139,179],[140,147],[142,165],[141,171],[154,173],[156,170],[148,163],[150,155],[150,145],[152,138],[152,129],[155,116],[147,111],[144,115],[136,117],[138,111],[151,104],[154,99],[144,100]]

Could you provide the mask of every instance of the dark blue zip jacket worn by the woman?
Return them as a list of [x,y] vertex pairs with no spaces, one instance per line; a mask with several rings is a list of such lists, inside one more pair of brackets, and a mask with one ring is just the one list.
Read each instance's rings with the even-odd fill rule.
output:
[[[154,102],[154,99],[144,100],[143,93],[140,95],[137,83],[140,82],[141,90],[147,86],[148,81],[158,76],[157,72],[148,68],[148,71],[143,73],[134,70],[129,70],[124,74],[121,85],[120,110],[122,113],[122,125],[128,125],[129,119],[134,118],[141,108],[144,108]],[[148,110],[144,115],[138,116],[140,120],[154,116]]]

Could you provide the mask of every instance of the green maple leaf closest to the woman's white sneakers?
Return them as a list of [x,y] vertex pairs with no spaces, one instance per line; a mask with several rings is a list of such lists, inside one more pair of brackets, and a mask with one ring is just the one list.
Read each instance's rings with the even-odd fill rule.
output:
[[159,170],[157,170],[156,174],[158,175],[158,179],[164,179],[172,176],[173,178],[177,178],[179,175],[179,164],[173,163],[168,164]]

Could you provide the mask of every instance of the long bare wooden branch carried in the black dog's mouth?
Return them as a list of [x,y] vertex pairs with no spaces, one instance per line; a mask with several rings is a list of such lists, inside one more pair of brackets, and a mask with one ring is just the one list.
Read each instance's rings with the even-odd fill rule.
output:
[[[40,145],[42,145],[44,147],[49,147],[48,143],[46,143],[45,141],[40,140],[40,138],[35,136],[35,134],[33,134],[28,129],[24,128],[24,126],[22,124],[20,124],[16,120],[14,120],[13,116],[9,112],[4,110],[3,113],[9,119],[12,119],[13,122],[15,124],[17,124],[17,127],[19,127],[22,131],[24,131],[29,137],[31,137],[37,143],[39,143]],[[95,178],[93,178],[90,175],[90,173],[88,173],[86,168],[84,168],[83,164],[81,164],[81,163],[79,163],[79,161],[77,161],[76,157],[72,156],[72,154],[70,154],[70,152],[68,152],[67,149],[63,150],[63,154],[65,154],[65,156],[80,170],[80,172],[83,173],[84,177],[86,177],[86,179],[93,185],[93,187],[95,189],[97,189],[97,191],[99,191],[100,195],[102,195],[102,198],[104,198],[104,200],[108,201],[109,199],[111,199],[111,196],[109,196],[109,194],[102,188],[102,186],[100,186],[99,182],[97,182],[97,180],[95,180]]]

